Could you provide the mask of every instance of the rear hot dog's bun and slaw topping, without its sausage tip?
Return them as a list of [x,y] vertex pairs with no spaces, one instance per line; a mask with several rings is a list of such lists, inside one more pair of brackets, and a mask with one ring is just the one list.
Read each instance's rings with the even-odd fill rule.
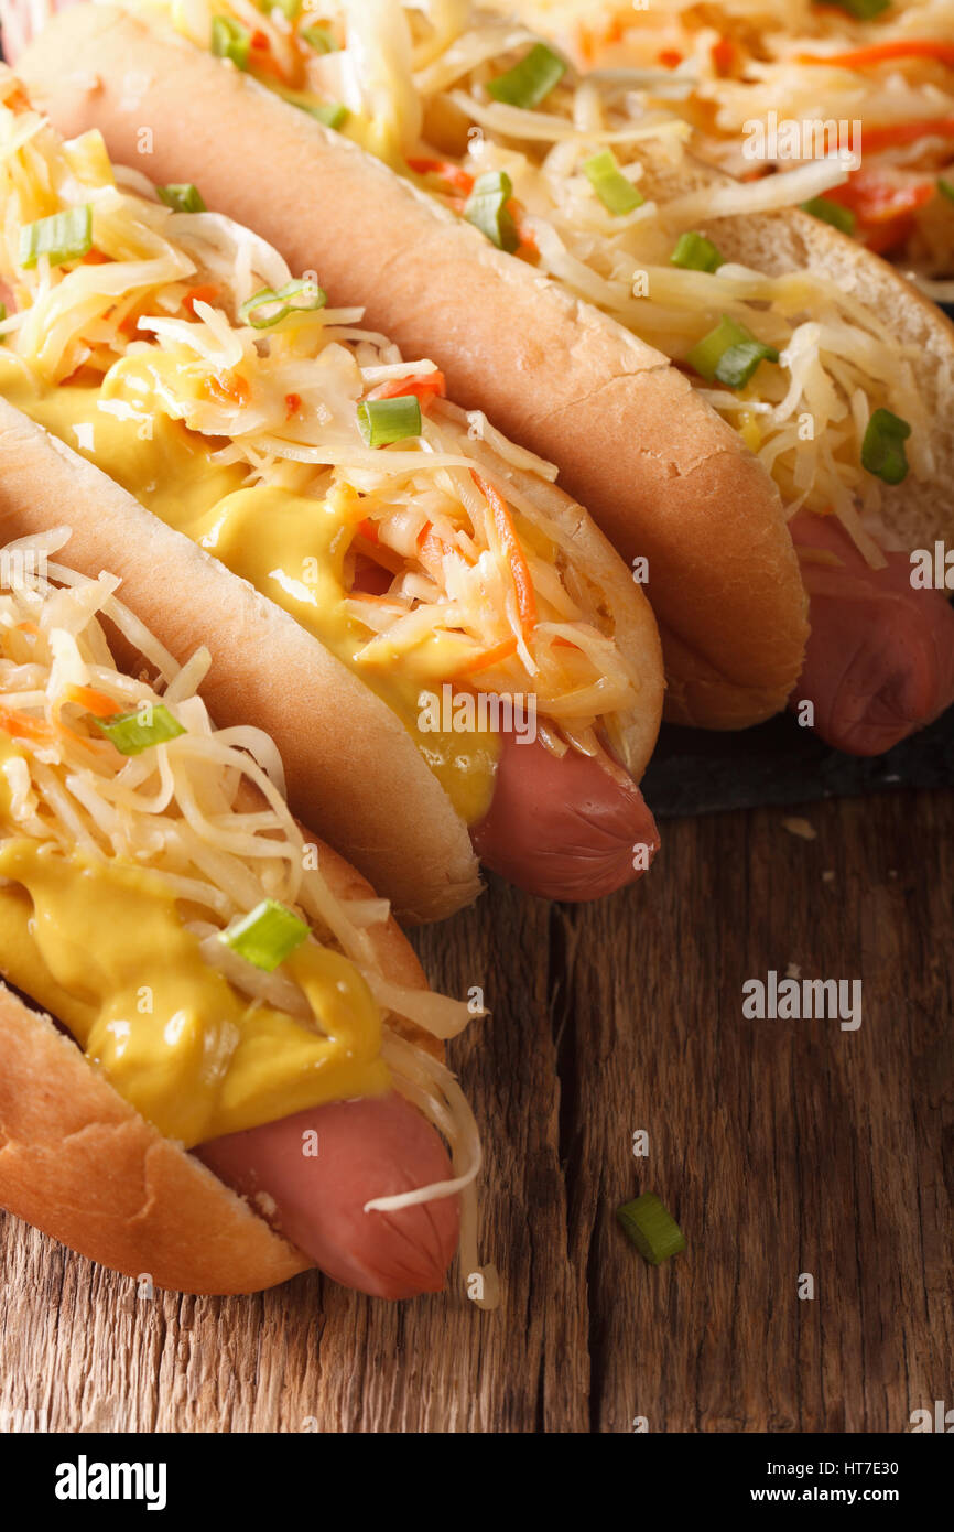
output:
[[[58,123],[96,123],[130,158],[138,126],[162,124],[153,167],[168,176],[198,175],[208,144],[222,205],[294,259],[317,251],[458,397],[557,461],[623,558],[648,561],[671,717],[743,726],[802,669],[805,591],[764,470],[786,506],[835,510],[859,548],[862,510],[945,535],[954,340],[880,260],[798,210],[841,195],[841,164],[740,185],[688,152],[678,101],[640,95],[652,81],[583,78],[462,5],[328,5],[320,52],[294,6],[253,32],[227,0],[214,26],[201,5],[132,9],[141,21],[75,8],[25,55]],[[259,156],[296,167],[268,196],[243,173]],[[873,466],[885,411],[911,427],[903,486]]]

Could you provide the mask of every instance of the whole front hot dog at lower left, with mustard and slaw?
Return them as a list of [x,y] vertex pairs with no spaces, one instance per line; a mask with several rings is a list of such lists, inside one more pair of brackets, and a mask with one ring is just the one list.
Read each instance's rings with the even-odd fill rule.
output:
[[210,723],[208,654],[66,541],[0,552],[0,1206],[184,1291],[438,1291],[479,1167],[439,1062],[467,1008],[292,820],[273,741]]

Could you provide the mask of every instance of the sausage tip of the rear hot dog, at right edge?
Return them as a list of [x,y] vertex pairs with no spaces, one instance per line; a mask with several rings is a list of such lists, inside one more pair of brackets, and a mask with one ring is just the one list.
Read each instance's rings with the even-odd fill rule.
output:
[[841,564],[802,561],[812,634],[789,706],[810,699],[815,731],[851,755],[880,755],[954,702],[954,611],[939,590],[914,590],[907,553],[873,570],[835,516],[801,512],[799,547]]

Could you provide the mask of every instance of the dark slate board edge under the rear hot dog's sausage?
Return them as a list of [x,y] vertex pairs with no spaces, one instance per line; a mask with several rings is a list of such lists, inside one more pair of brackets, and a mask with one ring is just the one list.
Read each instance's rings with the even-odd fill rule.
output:
[[870,760],[830,749],[789,714],[741,734],[666,723],[640,786],[662,820],[897,787],[954,787],[954,708]]

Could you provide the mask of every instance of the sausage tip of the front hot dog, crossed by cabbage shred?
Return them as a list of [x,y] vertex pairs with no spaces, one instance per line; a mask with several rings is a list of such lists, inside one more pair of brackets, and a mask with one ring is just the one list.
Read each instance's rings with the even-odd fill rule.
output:
[[453,1177],[435,1129],[397,1092],[312,1106],[193,1152],[337,1282],[394,1299],[444,1285],[459,1235],[456,1195],[364,1212],[372,1198]]

